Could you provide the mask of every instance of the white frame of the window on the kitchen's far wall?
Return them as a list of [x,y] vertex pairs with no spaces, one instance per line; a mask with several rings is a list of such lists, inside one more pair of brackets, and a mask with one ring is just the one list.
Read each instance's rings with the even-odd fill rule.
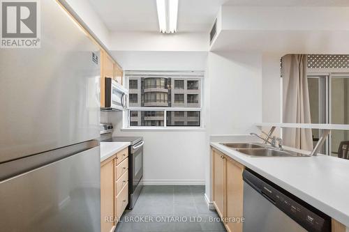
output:
[[[126,88],[128,88],[129,79],[135,79],[134,75],[129,76],[128,73],[133,74],[135,71],[126,71],[125,72],[125,80],[126,80]],[[138,78],[147,77],[148,72],[137,72]],[[154,73],[154,72],[151,72]],[[163,72],[156,72],[156,74],[161,74]],[[178,72],[165,72],[163,75],[168,78],[177,78],[177,79],[200,79],[200,84],[198,86],[198,90],[200,91],[200,106],[199,107],[128,107],[126,111],[124,111],[124,123],[121,130],[124,131],[147,131],[147,130],[161,130],[161,131],[171,131],[171,130],[185,130],[185,131],[202,131],[205,130],[204,124],[204,109],[203,105],[205,105],[204,99],[204,86],[205,86],[205,78],[203,71],[197,72],[181,72],[181,76],[177,76]],[[190,74],[190,75],[188,75]],[[193,75],[194,74],[194,75]],[[188,75],[188,76],[187,76]],[[159,76],[161,77],[161,76]],[[174,87],[174,86],[173,86]],[[128,102],[129,104],[129,102]],[[129,106],[129,105],[128,105]],[[131,126],[131,111],[163,111],[163,126]],[[199,111],[199,122],[200,126],[191,126],[191,125],[167,125],[167,114],[168,111]]]

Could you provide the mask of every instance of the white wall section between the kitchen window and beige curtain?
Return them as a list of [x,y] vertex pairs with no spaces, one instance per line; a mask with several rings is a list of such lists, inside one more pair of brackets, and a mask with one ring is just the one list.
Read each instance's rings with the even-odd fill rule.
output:
[[205,93],[207,125],[205,179],[210,199],[209,135],[248,134],[262,121],[262,56],[209,52]]

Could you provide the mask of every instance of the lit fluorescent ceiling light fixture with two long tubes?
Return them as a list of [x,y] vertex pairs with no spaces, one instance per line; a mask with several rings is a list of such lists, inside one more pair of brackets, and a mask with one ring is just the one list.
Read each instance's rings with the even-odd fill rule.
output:
[[177,31],[178,0],[156,0],[158,26],[161,33]]

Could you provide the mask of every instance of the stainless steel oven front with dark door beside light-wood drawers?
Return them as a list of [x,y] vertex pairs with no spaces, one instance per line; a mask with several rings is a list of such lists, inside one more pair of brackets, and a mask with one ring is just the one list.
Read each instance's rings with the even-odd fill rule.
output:
[[135,206],[140,190],[142,190],[143,178],[143,145],[144,141],[139,141],[137,144],[130,146],[129,162],[128,162],[128,192],[129,206],[132,209]]

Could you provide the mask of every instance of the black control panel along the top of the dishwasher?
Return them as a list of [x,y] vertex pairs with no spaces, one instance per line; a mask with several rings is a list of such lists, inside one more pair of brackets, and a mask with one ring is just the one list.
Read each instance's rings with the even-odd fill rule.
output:
[[307,231],[331,231],[331,217],[249,169],[244,181]]

